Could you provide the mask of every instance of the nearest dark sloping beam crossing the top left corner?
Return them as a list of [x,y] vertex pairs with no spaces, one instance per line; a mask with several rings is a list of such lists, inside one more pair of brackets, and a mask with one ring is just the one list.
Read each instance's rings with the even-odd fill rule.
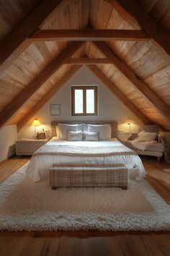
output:
[[32,40],[27,39],[62,0],[43,0],[12,32],[0,42],[0,74],[9,67]]

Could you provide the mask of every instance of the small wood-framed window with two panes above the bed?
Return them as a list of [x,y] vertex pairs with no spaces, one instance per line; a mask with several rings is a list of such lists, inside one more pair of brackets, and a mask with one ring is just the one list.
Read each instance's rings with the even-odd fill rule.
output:
[[71,87],[72,116],[97,116],[97,86]]

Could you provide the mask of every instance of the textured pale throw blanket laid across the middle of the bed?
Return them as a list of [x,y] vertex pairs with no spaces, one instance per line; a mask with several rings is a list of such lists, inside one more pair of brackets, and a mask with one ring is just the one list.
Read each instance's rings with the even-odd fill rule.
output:
[[69,156],[109,156],[109,155],[137,155],[125,145],[84,147],[73,145],[44,145],[35,151],[34,155],[69,155]]

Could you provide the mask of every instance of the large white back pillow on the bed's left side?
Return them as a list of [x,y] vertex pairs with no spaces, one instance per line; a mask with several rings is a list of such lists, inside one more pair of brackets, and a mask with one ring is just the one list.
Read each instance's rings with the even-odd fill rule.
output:
[[82,131],[82,124],[58,124],[57,138],[58,140],[67,140],[68,131]]

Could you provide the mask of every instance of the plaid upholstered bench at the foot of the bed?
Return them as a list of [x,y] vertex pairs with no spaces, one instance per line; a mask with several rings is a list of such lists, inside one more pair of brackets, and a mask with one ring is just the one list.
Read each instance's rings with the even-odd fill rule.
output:
[[123,164],[55,164],[50,168],[50,186],[121,187],[129,185],[128,168]]

